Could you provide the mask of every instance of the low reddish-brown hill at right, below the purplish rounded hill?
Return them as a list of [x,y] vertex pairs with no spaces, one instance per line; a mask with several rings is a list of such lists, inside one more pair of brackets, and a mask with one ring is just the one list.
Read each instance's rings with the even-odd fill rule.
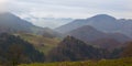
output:
[[114,48],[124,46],[122,43],[118,42],[114,38],[100,38],[91,42],[91,44],[100,48],[106,48],[108,51],[113,51]]

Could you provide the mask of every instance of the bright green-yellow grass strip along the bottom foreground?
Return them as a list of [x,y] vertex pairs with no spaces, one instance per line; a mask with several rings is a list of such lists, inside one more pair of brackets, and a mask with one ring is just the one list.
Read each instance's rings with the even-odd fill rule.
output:
[[132,58],[121,59],[101,59],[88,62],[63,62],[63,63],[45,63],[45,64],[23,64],[19,66],[132,66]]

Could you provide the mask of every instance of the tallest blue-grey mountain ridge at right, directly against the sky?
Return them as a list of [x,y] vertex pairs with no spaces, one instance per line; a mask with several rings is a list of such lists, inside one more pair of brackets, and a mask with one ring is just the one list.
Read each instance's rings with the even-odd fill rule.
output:
[[116,19],[107,14],[98,14],[88,19],[77,19],[68,24],[56,28],[55,30],[62,33],[67,33],[84,25],[91,25],[102,32],[118,32],[132,37],[132,20]]

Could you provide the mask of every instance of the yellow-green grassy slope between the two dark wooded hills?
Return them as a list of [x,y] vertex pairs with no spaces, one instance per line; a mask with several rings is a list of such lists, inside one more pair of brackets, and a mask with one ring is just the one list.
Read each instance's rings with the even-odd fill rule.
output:
[[21,38],[30,42],[33,44],[38,51],[43,52],[44,54],[47,54],[48,51],[51,51],[53,47],[57,46],[59,43],[59,38],[54,37],[44,37],[41,35],[33,35],[33,34],[15,34],[19,35]]

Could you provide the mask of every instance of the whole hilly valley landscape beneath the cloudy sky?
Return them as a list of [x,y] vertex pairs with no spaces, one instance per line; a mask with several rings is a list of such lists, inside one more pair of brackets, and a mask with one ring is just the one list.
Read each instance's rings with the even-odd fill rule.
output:
[[2,13],[0,65],[131,66],[131,22],[99,14],[50,29]]

